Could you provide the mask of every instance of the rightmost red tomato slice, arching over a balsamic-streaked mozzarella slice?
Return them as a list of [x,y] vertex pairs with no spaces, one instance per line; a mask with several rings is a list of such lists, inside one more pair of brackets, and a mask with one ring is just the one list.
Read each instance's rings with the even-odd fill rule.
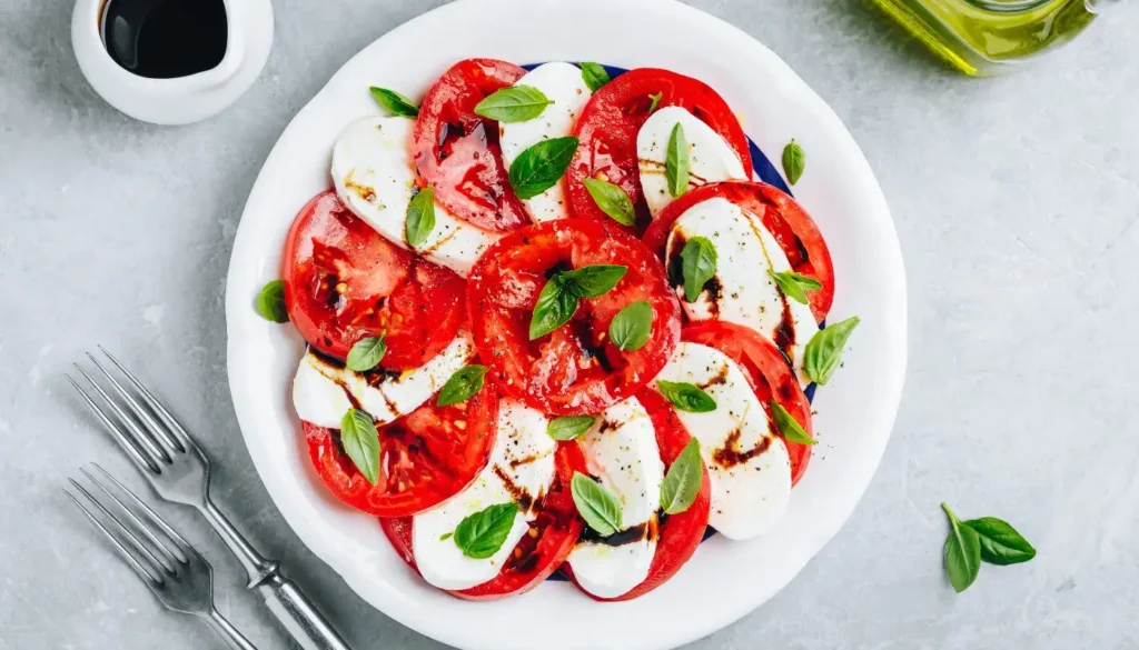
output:
[[808,293],[811,312],[821,323],[835,299],[835,268],[830,263],[830,249],[827,248],[819,227],[803,206],[773,186],[728,181],[685,192],[661,211],[645,232],[645,244],[664,260],[664,248],[673,222],[688,208],[710,198],[730,200],[741,209],[759,215],[787,254],[792,270],[822,283],[821,289]]

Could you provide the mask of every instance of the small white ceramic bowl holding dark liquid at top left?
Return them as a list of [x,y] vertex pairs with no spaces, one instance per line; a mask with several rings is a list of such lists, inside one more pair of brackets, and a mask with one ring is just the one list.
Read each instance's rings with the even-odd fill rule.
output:
[[100,34],[108,1],[76,0],[72,48],[83,76],[107,104],[154,124],[189,124],[233,104],[261,73],[273,41],[270,0],[223,0],[229,34],[226,56],[212,69],[174,79],[148,79],[123,68]]

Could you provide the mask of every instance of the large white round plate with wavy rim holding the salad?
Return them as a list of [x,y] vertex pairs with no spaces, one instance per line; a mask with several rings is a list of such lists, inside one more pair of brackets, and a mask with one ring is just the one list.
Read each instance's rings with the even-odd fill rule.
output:
[[[293,328],[262,320],[253,307],[261,287],[279,275],[293,216],[330,186],[337,132],[354,117],[377,113],[368,87],[423,97],[444,69],[468,57],[664,67],[720,91],[777,165],[784,145],[795,138],[808,161],[795,196],[834,256],[830,316],[862,319],[844,368],[818,392],[814,427],[822,453],[795,488],[778,528],[751,542],[708,540],[672,581],[632,602],[597,603],[568,583],[547,582],[494,602],[462,601],[427,586],[395,554],[376,519],[339,505],[320,485],[289,400],[304,344]],[[233,245],[226,307],[238,421],[289,526],[377,609],[468,649],[672,648],[756,608],[795,577],[854,509],[890,437],[906,368],[901,252],[862,153],[776,55],[672,0],[460,0],[368,46],[297,114],[265,161]]]

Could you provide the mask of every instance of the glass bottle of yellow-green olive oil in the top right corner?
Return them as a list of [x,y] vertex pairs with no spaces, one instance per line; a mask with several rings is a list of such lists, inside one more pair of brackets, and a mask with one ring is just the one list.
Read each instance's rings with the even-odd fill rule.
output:
[[1067,42],[1118,0],[872,0],[965,74],[982,76]]

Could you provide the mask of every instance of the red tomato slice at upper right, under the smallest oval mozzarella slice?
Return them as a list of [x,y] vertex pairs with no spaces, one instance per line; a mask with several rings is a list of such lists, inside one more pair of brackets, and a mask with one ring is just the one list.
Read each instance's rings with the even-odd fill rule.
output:
[[752,168],[747,137],[728,102],[704,82],[656,68],[629,71],[598,90],[581,112],[574,134],[581,140],[570,165],[570,200],[584,219],[612,221],[597,207],[582,179],[601,178],[625,190],[641,224],[650,220],[641,196],[637,164],[637,133],[649,116],[650,94],[661,93],[658,108],[680,106],[712,127],[736,150],[745,170]]

